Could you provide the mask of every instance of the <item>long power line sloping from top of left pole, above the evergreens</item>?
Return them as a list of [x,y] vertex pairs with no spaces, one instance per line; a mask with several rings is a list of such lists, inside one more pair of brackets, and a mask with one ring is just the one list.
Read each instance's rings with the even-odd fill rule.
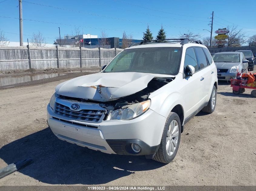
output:
[[[154,24],[154,23],[148,23],[148,22],[142,22],[142,21],[128,20],[128,19],[123,19],[123,18],[108,17],[108,16],[105,16],[105,15],[99,15],[99,14],[93,14],[93,13],[86,13],[86,12],[82,12],[82,11],[76,11],[76,10],[70,10],[70,9],[65,9],[65,8],[59,8],[59,7],[54,7],[54,6],[50,6],[50,5],[43,5],[43,4],[39,4],[39,3],[32,3],[32,2],[27,2],[27,1],[23,1],[23,2],[31,3],[31,4],[35,4],[35,5],[41,5],[41,6],[45,6],[45,7],[51,7],[51,8],[61,9],[61,10],[65,10],[65,11],[73,11],[73,12],[78,12],[78,13],[83,13],[83,14],[90,14],[90,15],[99,16],[99,17],[106,17],[106,18],[118,19],[118,20],[122,20],[122,21],[130,21],[130,22],[143,23],[143,24]],[[154,25],[159,25],[159,26],[161,26],[161,24],[154,24]],[[163,25],[163,26],[165,26],[165,27],[175,27],[175,26],[169,26],[169,25]],[[187,28],[187,27],[175,27],[175,28],[202,30],[202,29]],[[127,32],[128,32],[128,31],[127,31]]]

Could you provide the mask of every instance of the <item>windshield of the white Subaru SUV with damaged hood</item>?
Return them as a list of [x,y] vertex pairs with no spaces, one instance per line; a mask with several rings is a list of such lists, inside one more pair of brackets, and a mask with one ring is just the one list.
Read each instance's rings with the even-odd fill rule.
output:
[[178,74],[182,48],[157,47],[127,49],[119,53],[104,72]]

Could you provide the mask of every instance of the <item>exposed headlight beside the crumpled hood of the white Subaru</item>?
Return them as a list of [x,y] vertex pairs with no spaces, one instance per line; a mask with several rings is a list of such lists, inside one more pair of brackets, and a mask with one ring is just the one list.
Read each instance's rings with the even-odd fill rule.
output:
[[148,110],[151,100],[143,101],[141,103],[135,103],[132,105],[124,106],[121,109],[110,111],[106,120],[129,120],[140,116],[142,113]]

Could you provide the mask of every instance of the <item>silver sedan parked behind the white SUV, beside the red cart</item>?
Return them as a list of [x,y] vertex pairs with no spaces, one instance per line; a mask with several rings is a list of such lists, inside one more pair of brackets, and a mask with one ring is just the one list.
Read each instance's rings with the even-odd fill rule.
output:
[[248,71],[248,60],[241,52],[216,53],[212,58],[217,66],[218,80],[230,80],[242,69]]

